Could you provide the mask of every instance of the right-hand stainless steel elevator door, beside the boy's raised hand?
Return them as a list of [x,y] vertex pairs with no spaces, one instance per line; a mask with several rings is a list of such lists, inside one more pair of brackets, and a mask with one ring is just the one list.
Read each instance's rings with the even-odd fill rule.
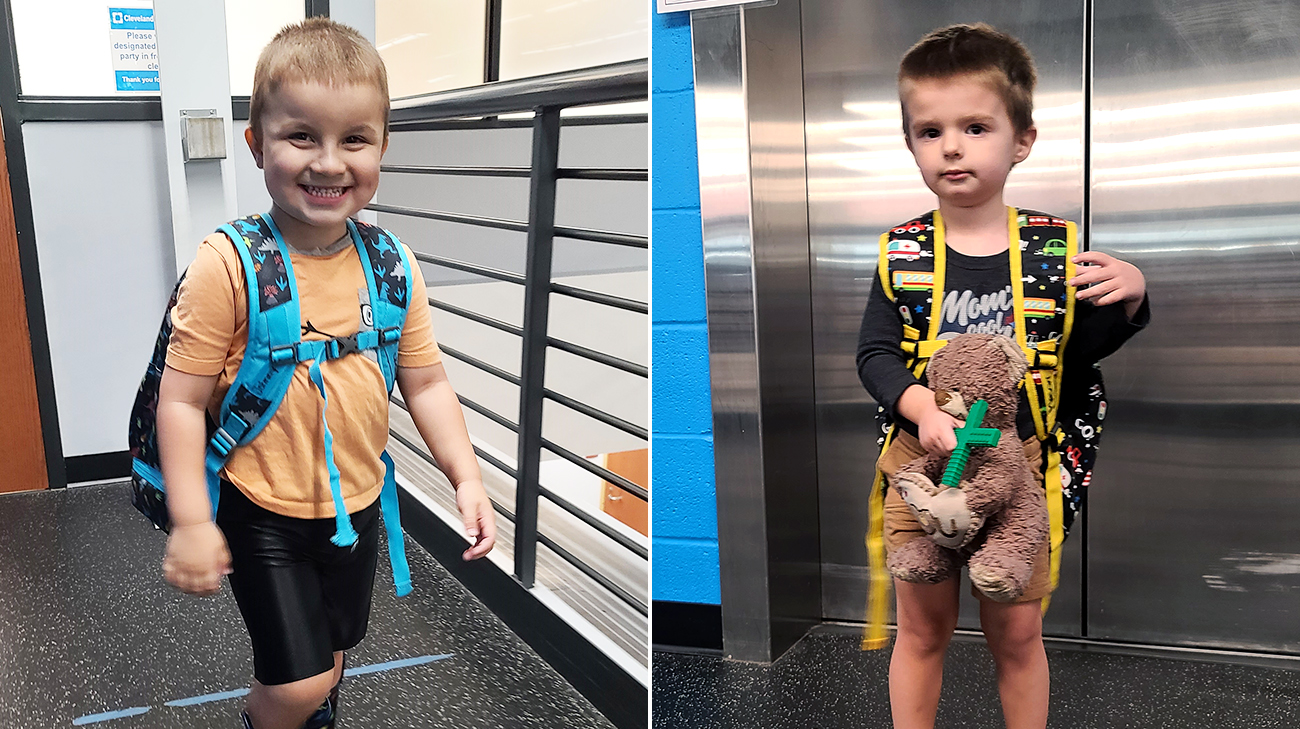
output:
[[1108,361],[1089,637],[1300,651],[1300,5],[1098,0],[1095,248],[1147,274]]

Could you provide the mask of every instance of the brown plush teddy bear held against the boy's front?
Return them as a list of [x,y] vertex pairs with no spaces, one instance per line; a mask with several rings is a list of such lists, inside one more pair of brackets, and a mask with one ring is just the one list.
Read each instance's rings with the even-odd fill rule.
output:
[[993,600],[1015,600],[1028,587],[1046,541],[1048,509],[1015,429],[1027,369],[1015,342],[991,334],[959,334],[931,357],[926,374],[940,409],[963,420],[970,405],[985,400],[979,425],[1001,437],[997,446],[971,450],[961,489],[936,486],[948,465],[944,455],[927,454],[889,480],[930,535],[890,552],[889,572],[898,580],[937,583],[966,563],[971,582]]

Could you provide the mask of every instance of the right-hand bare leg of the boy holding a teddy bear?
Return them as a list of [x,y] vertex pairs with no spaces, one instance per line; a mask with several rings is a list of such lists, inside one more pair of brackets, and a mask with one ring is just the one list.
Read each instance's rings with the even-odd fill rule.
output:
[[997,691],[1008,729],[1044,729],[1050,678],[1041,603],[994,603],[980,595],[979,621],[997,664]]

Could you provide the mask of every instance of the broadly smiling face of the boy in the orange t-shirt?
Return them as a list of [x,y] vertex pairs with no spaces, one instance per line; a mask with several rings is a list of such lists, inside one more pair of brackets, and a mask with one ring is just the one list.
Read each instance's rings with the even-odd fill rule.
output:
[[260,138],[244,136],[289,243],[328,246],[380,186],[384,99],[367,84],[285,83],[266,101]]

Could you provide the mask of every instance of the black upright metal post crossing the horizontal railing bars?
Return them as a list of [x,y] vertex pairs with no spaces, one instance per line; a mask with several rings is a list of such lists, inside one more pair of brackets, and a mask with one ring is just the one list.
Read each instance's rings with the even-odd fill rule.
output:
[[541,108],[533,120],[533,174],[528,196],[528,259],[524,270],[524,340],[519,387],[519,476],[515,491],[515,577],[533,586],[537,573],[537,495],[542,461],[542,392],[555,240],[555,179],[560,110]]

